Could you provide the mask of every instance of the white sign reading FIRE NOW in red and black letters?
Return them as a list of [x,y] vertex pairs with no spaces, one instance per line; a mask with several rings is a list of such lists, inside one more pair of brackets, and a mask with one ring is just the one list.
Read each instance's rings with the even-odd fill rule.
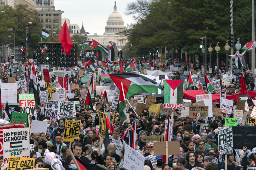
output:
[[35,114],[34,94],[19,94],[20,111],[29,115]]

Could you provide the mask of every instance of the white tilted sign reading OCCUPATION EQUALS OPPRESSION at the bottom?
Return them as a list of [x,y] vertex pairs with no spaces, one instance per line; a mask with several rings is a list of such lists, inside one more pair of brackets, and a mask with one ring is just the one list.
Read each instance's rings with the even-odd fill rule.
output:
[[144,169],[145,157],[125,144],[124,168],[126,169]]

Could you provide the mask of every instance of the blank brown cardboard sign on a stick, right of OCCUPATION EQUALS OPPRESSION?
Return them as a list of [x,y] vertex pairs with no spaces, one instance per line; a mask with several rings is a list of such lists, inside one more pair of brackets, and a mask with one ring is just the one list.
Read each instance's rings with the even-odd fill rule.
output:
[[[167,147],[166,147],[167,143]],[[166,155],[166,150],[168,155],[180,154],[180,141],[162,141],[154,143],[154,155]]]

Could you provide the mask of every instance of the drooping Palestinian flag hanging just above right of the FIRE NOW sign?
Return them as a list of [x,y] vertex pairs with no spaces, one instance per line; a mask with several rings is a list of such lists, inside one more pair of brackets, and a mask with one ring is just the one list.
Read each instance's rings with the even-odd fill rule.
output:
[[37,87],[37,79],[36,79],[36,71],[35,71],[35,65],[33,63],[31,73],[30,73],[30,79],[29,79],[29,86],[28,90],[30,94],[34,94],[35,96],[35,106],[40,106],[40,98],[38,93],[38,87]]

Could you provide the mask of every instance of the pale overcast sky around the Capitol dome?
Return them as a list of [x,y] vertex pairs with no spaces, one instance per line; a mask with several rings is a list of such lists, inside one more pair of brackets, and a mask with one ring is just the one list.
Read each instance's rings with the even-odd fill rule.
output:
[[[116,0],[117,11],[121,14],[124,25],[134,23],[132,15],[125,14],[127,2],[135,0]],[[82,22],[90,35],[103,35],[108,16],[114,11],[115,0],[54,0],[55,10],[64,11],[62,18],[68,18],[70,23],[76,23],[80,29]]]

